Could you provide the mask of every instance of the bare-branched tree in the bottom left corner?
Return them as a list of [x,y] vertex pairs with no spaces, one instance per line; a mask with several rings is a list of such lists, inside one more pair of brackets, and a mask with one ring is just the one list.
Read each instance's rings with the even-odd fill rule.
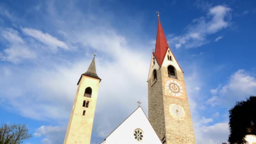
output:
[[31,138],[26,125],[8,125],[0,126],[0,144],[21,144],[24,140]]

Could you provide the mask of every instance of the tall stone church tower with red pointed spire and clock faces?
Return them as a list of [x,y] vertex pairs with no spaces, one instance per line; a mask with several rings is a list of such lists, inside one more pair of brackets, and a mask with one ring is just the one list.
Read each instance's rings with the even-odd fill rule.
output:
[[196,144],[183,71],[169,48],[159,15],[148,107],[149,122],[163,144]]

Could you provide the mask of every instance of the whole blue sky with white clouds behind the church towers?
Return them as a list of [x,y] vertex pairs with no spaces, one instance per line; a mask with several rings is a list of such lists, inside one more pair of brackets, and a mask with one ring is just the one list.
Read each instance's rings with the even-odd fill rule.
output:
[[[80,75],[96,54],[97,144],[142,102],[157,14],[184,70],[197,144],[227,142],[228,110],[256,94],[256,3],[219,0],[2,0],[0,123],[25,144],[61,144]],[[104,123],[102,119],[104,118]]]

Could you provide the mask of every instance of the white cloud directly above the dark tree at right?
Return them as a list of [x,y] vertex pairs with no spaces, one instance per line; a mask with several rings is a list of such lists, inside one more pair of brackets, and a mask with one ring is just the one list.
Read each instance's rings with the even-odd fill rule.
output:
[[252,72],[239,69],[230,75],[226,84],[218,86],[216,89],[211,89],[210,92],[213,96],[205,104],[212,107],[216,105],[227,108],[232,107],[232,104],[228,101],[240,101],[256,93],[256,77]]

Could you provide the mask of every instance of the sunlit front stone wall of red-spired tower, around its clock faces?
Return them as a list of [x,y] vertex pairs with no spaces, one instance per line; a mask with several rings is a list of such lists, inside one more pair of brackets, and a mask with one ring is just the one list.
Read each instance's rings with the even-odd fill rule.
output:
[[[196,144],[183,72],[177,70],[176,75],[178,80],[181,80],[184,99],[165,94],[164,78],[168,77],[167,67],[161,67],[161,73],[163,81],[162,91],[165,115],[166,144]],[[184,120],[174,120],[171,117],[169,112],[170,104],[179,104],[184,108],[186,113]]]

